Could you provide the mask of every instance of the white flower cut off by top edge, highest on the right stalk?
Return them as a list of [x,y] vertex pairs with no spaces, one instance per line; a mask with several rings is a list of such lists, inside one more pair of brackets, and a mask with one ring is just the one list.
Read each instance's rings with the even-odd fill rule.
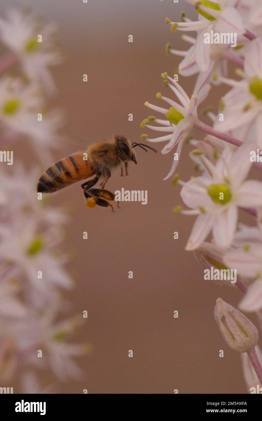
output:
[[198,69],[205,72],[210,64],[211,44],[204,43],[205,34],[233,33],[244,34],[241,16],[238,11],[230,4],[230,0],[187,0],[188,3],[195,5],[199,13],[198,21],[192,22],[189,19],[184,22],[171,22],[166,19],[166,23],[172,25],[171,30],[197,31],[196,45],[193,54],[196,56]]

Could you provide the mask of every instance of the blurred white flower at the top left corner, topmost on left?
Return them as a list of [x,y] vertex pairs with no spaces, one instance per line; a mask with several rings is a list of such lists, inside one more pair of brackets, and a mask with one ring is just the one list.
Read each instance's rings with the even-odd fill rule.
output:
[[[30,80],[43,84],[49,93],[55,85],[49,66],[59,64],[61,56],[53,48],[54,24],[41,27],[31,14],[10,8],[6,19],[0,18],[0,41],[13,51]],[[42,35],[42,42],[38,41]]]

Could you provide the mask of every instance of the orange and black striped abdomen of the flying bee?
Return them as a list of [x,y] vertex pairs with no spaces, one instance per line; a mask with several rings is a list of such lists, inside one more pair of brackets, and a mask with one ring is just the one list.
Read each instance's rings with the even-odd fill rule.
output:
[[51,165],[40,177],[37,192],[52,193],[95,174],[90,160],[77,152]]

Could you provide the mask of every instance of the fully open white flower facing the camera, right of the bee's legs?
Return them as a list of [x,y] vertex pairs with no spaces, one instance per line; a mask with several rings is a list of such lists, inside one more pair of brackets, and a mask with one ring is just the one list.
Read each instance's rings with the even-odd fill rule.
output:
[[229,247],[236,231],[238,207],[262,206],[262,183],[244,181],[251,167],[249,150],[248,144],[236,152],[226,147],[216,165],[203,156],[202,162],[209,173],[187,183],[178,181],[183,185],[181,197],[184,203],[193,209],[182,213],[198,215],[186,250],[198,248],[210,231],[215,244]]

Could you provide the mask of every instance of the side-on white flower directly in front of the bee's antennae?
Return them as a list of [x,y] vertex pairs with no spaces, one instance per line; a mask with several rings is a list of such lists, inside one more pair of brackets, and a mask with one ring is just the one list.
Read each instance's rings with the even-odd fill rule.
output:
[[[197,106],[201,104],[202,101],[208,95],[210,85],[206,83],[210,73],[214,69],[214,64],[212,63],[209,66],[209,69],[204,75],[202,75],[201,79],[198,81],[196,88],[193,91],[191,99],[189,99],[188,95],[185,93],[183,88],[171,77],[164,74],[164,77],[172,83],[168,83],[169,88],[175,93],[177,98],[180,100],[181,104],[177,104],[177,102],[169,99],[165,96],[161,96],[161,94],[157,94],[157,98],[161,98],[166,101],[171,107],[169,109],[156,107],[153,104],[149,104],[148,102],[145,105],[155,111],[161,112],[167,118],[167,120],[160,120],[154,119],[156,123],[161,124],[162,126],[151,126],[148,125],[148,121],[150,119],[143,120],[141,123],[141,128],[148,127],[156,131],[166,131],[170,134],[167,136],[161,136],[156,139],[147,139],[147,135],[142,135],[141,139],[147,139],[150,142],[161,142],[161,141],[169,141],[169,143],[162,149],[162,154],[167,154],[171,151],[171,149],[177,145],[177,154],[180,157],[180,153],[183,147],[183,143],[185,139],[189,136],[191,131],[194,128],[195,123],[197,122]],[[172,174],[175,172],[177,167],[178,160],[173,160],[173,164],[171,170],[169,171],[168,175],[164,178],[167,180]]]

